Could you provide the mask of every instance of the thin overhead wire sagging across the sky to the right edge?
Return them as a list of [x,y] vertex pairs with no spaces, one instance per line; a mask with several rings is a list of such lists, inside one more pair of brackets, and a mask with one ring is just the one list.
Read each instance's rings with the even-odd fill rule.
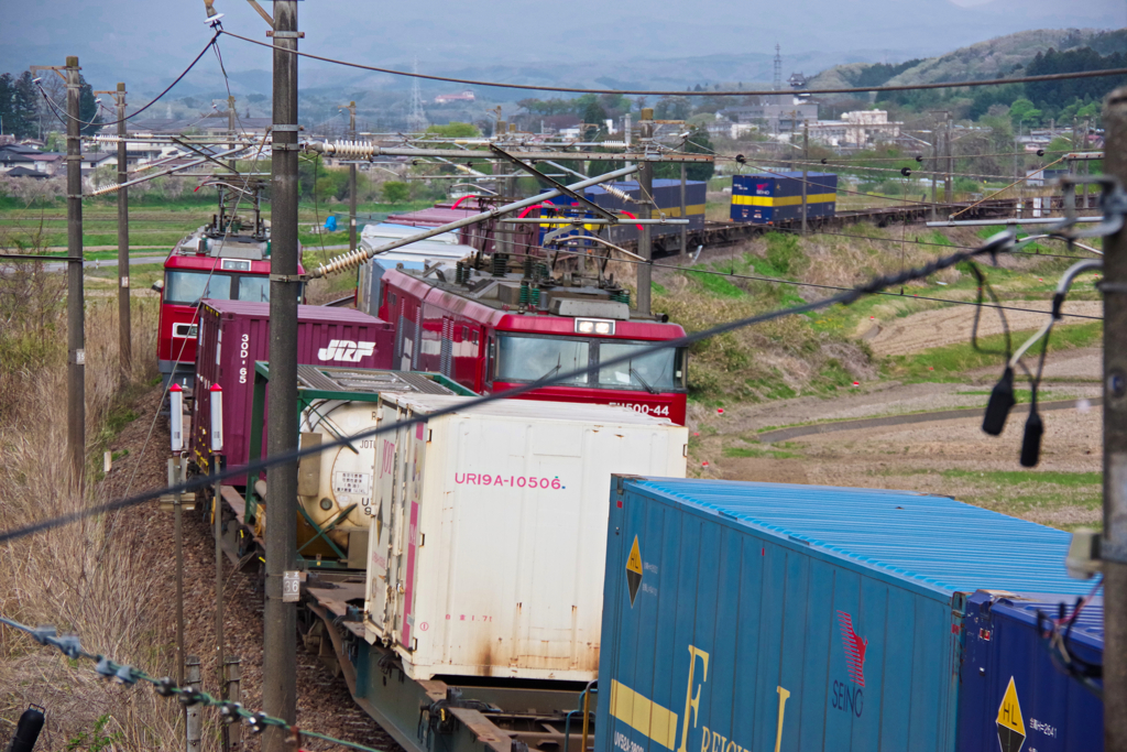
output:
[[[279,50],[281,47],[275,47],[273,44],[267,44],[266,42],[259,42],[258,39],[251,39],[246,36],[239,36],[225,29],[221,30],[236,39],[247,42],[250,44],[257,44],[260,47],[267,47],[269,50]],[[296,50],[285,50],[295,55],[301,55],[302,57],[309,57],[310,60],[319,60],[322,63],[332,63],[335,65],[345,65],[347,68],[358,68],[360,70],[372,71],[375,73],[388,73],[390,76],[405,76],[408,78],[420,78],[428,81],[443,81],[445,83],[464,83],[468,86],[488,86],[498,89],[521,89],[526,91],[561,91],[568,94],[613,94],[613,95],[638,95],[638,96],[655,96],[655,97],[756,97],[756,96],[778,96],[780,92],[774,89],[767,89],[762,91],[647,91],[644,89],[578,89],[569,88],[562,86],[530,86],[521,83],[499,83],[497,81],[476,81],[473,79],[462,79],[452,78],[449,76],[429,76],[426,73],[414,73],[408,71],[398,71],[390,68],[378,68],[375,65],[364,65],[362,63],[353,63],[345,60],[336,60],[335,57],[325,57],[322,55],[314,55],[308,52],[298,52]],[[997,86],[1002,83],[1035,83],[1038,81],[1067,81],[1079,78],[1101,78],[1104,76],[1127,76],[1127,68],[1109,68],[1098,71],[1077,71],[1075,73],[1048,73],[1044,76],[1022,76],[1020,78],[1010,79],[987,79],[980,81],[946,81],[942,83],[913,83],[911,86],[872,86],[868,88],[857,88],[857,87],[844,87],[836,89],[802,89],[799,94],[866,94],[869,91],[914,91],[917,89],[960,89],[962,87],[976,87],[976,86]]]

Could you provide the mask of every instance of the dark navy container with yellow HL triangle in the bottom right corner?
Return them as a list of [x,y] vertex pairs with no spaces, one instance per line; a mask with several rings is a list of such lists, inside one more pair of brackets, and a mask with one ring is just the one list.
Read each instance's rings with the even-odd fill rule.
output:
[[[1058,604],[1065,603],[1071,616],[1075,601],[1067,595],[987,592],[968,599],[960,752],[1103,749],[1103,701],[1054,664],[1038,632],[1038,612],[1056,618]],[[1103,663],[1102,599],[1081,610],[1067,652],[1090,664]],[[1102,690],[1102,681],[1092,683]]]

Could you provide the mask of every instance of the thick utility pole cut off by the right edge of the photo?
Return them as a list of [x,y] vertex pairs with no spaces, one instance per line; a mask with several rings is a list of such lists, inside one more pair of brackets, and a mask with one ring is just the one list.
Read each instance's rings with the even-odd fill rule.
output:
[[[1127,184],[1127,88],[1103,105],[1103,170]],[[1127,230],[1103,239],[1103,749],[1127,750]]]

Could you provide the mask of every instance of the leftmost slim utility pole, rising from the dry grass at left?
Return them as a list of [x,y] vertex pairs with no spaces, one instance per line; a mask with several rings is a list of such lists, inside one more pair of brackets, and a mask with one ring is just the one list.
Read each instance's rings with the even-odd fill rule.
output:
[[[66,423],[72,487],[86,485],[86,313],[82,291],[82,85],[78,57],[66,59]],[[126,267],[128,268],[128,267]]]

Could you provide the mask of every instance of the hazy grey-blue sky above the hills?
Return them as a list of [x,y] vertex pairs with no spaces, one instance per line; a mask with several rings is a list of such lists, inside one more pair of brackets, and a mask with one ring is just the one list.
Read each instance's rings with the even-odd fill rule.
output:
[[[263,1],[269,10],[272,3]],[[78,54],[96,88],[125,80],[139,91],[167,85],[206,44],[203,0],[41,0],[5,3],[0,71],[62,64]],[[224,27],[266,39],[245,0],[215,0]],[[890,62],[950,52],[1035,28],[1122,28],[1125,0],[533,0],[494,2],[299,3],[301,48],[375,65],[456,73],[485,63],[671,59],[712,54],[864,52]],[[227,37],[229,71],[268,71],[269,51]],[[218,74],[213,55],[199,80]],[[784,70],[788,70],[784,67]],[[808,74],[817,71],[808,70]],[[197,76],[193,71],[193,77]],[[302,63],[302,87],[355,80],[355,73]],[[735,78],[735,77],[734,77]]]

